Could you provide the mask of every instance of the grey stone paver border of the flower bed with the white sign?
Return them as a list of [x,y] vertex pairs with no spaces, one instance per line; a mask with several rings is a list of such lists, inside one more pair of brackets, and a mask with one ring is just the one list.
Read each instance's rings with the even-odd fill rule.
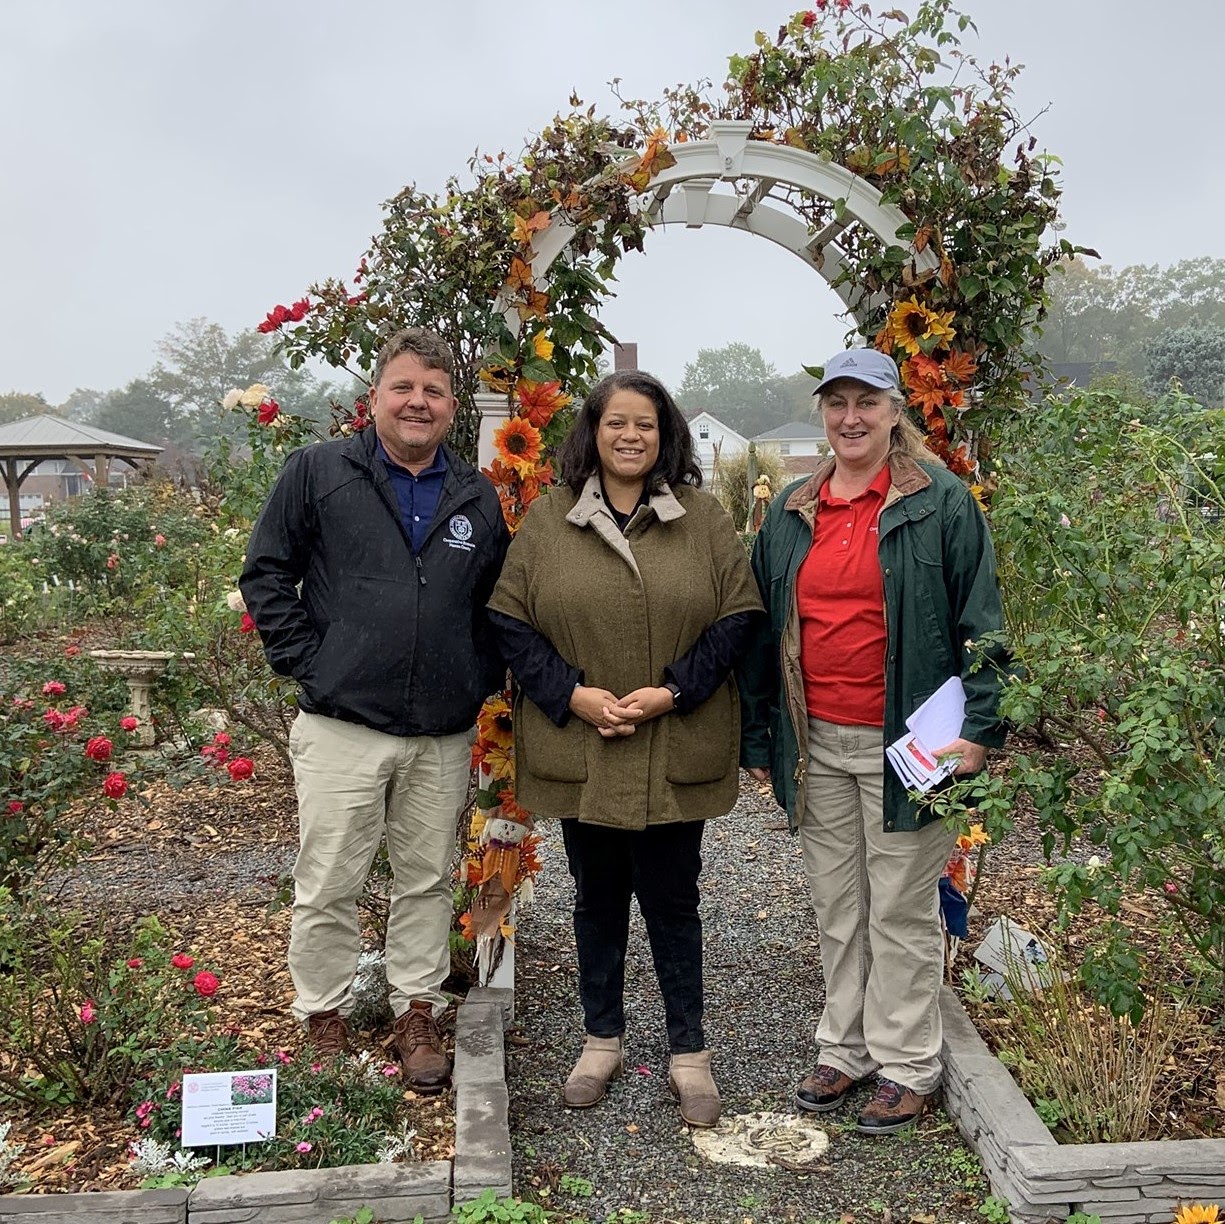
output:
[[508,989],[479,989],[456,1012],[453,1160],[209,1177],[186,1190],[0,1195],[0,1224],[328,1224],[368,1206],[387,1224],[450,1220],[452,1202],[511,1193],[505,1029]]

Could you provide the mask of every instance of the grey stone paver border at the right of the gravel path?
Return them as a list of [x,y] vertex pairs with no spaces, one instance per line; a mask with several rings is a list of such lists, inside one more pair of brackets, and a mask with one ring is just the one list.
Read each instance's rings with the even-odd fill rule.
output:
[[1225,1139],[1057,1143],[947,986],[940,1010],[944,1108],[1018,1224],[1170,1224],[1183,1203],[1225,1199]]

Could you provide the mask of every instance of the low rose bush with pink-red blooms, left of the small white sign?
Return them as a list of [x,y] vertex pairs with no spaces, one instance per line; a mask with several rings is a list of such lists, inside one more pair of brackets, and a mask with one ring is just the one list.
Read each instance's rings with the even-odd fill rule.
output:
[[15,1055],[0,1067],[0,1099],[114,1104],[142,1075],[181,1066],[207,1023],[209,988],[174,956],[156,918],[120,935],[104,916],[0,888],[0,1014]]

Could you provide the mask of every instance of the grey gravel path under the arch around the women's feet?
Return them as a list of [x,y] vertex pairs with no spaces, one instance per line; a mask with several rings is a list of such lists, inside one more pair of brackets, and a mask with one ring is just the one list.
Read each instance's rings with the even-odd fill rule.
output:
[[[815,1062],[822,1002],[799,847],[778,827],[773,799],[742,782],[739,804],[707,825],[703,843],[706,1029],[724,1117],[794,1110],[795,1083]],[[566,1218],[624,1224],[980,1219],[975,1208],[987,1190],[948,1119],[937,1113],[909,1135],[860,1136],[848,1124],[866,1089],[826,1115],[831,1144],[815,1171],[745,1169],[701,1155],[668,1092],[663,1007],[637,912],[626,1076],[594,1109],[562,1109],[561,1084],[582,1040],[573,887],[556,822],[541,821],[541,832],[544,870],[517,936],[516,1019],[524,1044],[511,1045],[508,1059],[521,1196]]]

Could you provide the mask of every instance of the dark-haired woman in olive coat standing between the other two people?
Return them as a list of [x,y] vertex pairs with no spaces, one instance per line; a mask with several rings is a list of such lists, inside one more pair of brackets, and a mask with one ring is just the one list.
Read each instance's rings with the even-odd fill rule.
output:
[[622,1067],[630,902],[664,999],[669,1083],[691,1126],[719,1094],[702,1027],[702,829],[736,801],[733,662],[761,609],[726,511],[697,488],[688,426],[649,374],[587,397],[564,485],[533,502],[490,619],[514,673],[516,800],[561,817],[586,1038],[562,1093],[595,1105]]

